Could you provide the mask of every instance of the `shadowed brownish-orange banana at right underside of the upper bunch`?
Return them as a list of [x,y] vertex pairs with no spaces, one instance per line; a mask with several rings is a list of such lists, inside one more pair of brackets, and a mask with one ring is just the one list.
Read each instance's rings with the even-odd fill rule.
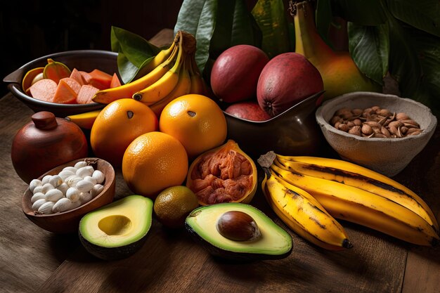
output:
[[177,82],[176,87],[171,91],[171,93],[169,93],[165,98],[162,98],[162,100],[150,105],[150,109],[155,112],[157,117],[160,117],[162,110],[166,105],[168,105],[169,102],[175,98],[179,98],[180,96],[191,93],[190,73],[188,71],[188,67],[186,66],[188,61],[188,58],[186,58],[183,66],[181,67],[181,71],[179,72],[179,82]]

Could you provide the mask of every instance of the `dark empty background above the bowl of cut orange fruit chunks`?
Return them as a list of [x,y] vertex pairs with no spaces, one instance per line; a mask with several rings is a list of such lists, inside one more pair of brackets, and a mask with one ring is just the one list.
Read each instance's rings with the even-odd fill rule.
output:
[[[183,0],[13,0],[0,6],[1,80],[35,58],[60,51],[110,51],[112,25],[150,39],[173,29]],[[8,93],[2,82],[0,94]]]

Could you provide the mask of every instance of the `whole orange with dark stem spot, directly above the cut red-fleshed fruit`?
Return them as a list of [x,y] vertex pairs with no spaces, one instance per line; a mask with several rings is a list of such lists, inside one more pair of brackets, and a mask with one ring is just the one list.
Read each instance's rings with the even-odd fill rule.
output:
[[226,139],[226,118],[214,100],[189,94],[172,100],[162,110],[160,131],[174,136],[193,159]]

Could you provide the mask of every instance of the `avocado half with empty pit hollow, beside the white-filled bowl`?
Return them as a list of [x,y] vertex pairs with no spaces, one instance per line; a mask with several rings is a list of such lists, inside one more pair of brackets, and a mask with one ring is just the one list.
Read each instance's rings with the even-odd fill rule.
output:
[[142,247],[152,219],[153,201],[129,195],[84,215],[79,222],[79,240],[100,259],[124,259]]

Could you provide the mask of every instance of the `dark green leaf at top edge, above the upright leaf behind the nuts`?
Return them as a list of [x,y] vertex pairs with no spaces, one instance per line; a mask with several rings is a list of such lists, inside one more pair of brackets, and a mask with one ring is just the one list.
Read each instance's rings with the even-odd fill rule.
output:
[[381,25],[387,20],[381,0],[332,0],[333,15],[358,25]]

